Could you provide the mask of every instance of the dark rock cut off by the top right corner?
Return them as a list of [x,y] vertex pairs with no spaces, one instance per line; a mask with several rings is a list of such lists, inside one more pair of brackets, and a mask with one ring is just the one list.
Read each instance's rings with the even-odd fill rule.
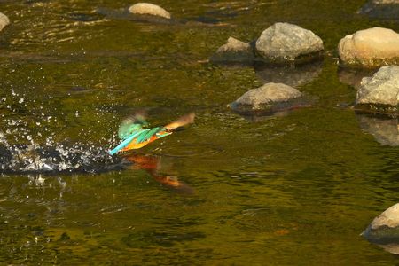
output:
[[371,0],[358,13],[372,18],[399,20],[399,0]]

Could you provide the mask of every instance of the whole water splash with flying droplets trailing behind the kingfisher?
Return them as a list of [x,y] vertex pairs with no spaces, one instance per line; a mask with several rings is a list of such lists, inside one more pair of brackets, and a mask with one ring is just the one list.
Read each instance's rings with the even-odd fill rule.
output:
[[[65,121],[59,121],[61,115],[54,108],[46,111],[42,105],[37,106],[35,99],[14,90],[9,97],[1,98],[0,173],[93,173],[125,167],[126,161],[108,154],[115,136],[96,142],[59,142],[59,138],[64,139],[59,133],[65,131],[59,128],[66,126]],[[74,116],[79,117],[80,113],[75,111]],[[85,139],[90,134],[90,129],[85,129],[79,137]]]

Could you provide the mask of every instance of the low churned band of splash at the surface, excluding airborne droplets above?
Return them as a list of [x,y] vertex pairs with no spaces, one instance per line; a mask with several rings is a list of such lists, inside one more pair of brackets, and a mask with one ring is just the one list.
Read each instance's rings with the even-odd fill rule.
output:
[[124,168],[126,162],[111,157],[105,147],[82,143],[56,144],[47,137],[44,145],[28,136],[29,144],[11,145],[0,132],[0,172],[102,172]]

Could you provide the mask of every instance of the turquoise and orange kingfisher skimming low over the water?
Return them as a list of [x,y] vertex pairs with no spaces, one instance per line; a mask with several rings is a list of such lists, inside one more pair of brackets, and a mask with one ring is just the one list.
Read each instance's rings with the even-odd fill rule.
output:
[[118,130],[118,137],[121,139],[121,144],[109,151],[109,154],[113,155],[115,153],[140,149],[158,138],[167,137],[173,132],[182,129],[184,125],[192,123],[194,118],[194,113],[188,113],[176,121],[168,123],[166,126],[145,129],[148,126],[147,121],[145,121],[145,115],[143,113],[136,113],[121,122]]

